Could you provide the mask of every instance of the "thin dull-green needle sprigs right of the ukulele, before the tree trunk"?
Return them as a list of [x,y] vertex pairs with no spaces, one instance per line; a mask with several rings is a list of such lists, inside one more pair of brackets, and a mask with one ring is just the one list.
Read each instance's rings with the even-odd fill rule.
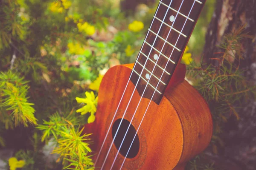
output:
[[[187,75],[195,79],[194,86],[206,99],[210,107],[214,131],[212,136],[212,152],[217,154],[218,147],[224,147],[224,142],[219,137],[221,127],[228,121],[230,116],[235,116],[239,120],[236,109],[241,107],[241,101],[246,101],[256,93],[256,86],[244,77],[243,70],[239,69],[243,59],[243,47],[241,40],[252,38],[244,34],[245,26],[239,27],[232,34],[224,38],[224,42],[219,45],[222,52],[216,53],[218,57],[209,57],[214,64],[200,64],[192,62],[187,66]],[[214,62],[212,62],[214,63]],[[196,159],[191,161],[190,170],[212,170],[213,166],[200,167]],[[208,168],[208,169],[207,169]]]

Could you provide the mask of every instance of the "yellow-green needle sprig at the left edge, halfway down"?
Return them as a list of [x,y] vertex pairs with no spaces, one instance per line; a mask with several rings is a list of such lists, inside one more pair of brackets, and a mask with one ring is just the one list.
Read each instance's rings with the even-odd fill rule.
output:
[[12,71],[0,73],[0,116],[6,129],[13,128],[13,122],[15,126],[28,126],[28,123],[37,125],[35,109],[31,107],[34,104],[28,102],[27,83],[24,77],[20,78]]

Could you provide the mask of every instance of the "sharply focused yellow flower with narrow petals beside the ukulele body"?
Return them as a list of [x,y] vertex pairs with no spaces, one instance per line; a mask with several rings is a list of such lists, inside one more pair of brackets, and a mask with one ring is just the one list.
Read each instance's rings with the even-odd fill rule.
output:
[[86,104],[82,108],[76,110],[76,113],[81,113],[81,115],[84,115],[86,113],[90,113],[90,116],[89,116],[87,122],[92,123],[95,120],[94,113],[97,110],[98,97],[95,98],[95,95],[94,95],[93,91],[91,91],[90,93],[85,92],[85,96],[86,96],[86,98],[76,97],[76,101],[78,103]]

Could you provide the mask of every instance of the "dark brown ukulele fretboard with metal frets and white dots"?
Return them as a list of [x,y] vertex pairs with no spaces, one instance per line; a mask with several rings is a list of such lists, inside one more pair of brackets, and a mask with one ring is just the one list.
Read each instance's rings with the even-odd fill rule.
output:
[[140,96],[160,103],[206,0],[160,0],[131,81]]

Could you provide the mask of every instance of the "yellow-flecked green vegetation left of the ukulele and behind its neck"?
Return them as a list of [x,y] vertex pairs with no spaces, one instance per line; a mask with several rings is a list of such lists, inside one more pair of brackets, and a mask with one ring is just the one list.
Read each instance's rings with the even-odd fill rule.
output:
[[[6,169],[93,169],[81,127],[95,119],[102,75],[137,57],[158,4],[141,2],[0,0],[0,150],[15,157],[2,158]],[[189,40],[196,61],[214,9],[207,0]]]

